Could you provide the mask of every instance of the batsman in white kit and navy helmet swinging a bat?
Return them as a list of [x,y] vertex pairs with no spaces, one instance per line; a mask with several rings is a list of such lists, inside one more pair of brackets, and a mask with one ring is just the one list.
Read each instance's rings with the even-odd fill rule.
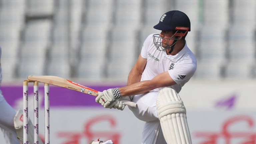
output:
[[191,144],[186,109],[179,96],[196,71],[196,57],[186,44],[190,20],[181,11],[163,14],[149,35],[128,76],[127,86],[104,90],[96,102],[123,110],[120,99],[130,99],[129,109],[145,121],[142,144]]

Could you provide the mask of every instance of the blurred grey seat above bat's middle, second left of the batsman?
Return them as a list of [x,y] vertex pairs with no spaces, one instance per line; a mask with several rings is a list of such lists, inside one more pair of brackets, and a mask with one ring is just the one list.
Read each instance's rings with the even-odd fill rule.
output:
[[79,50],[77,76],[80,78],[104,78],[108,47],[108,29],[88,26],[83,30]]

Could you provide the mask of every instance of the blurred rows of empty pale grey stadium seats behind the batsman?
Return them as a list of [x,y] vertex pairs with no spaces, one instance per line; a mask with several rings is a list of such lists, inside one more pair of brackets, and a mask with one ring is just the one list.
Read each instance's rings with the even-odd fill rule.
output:
[[195,79],[256,77],[255,0],[0,0],[5,80],[27,75],[126,80],[167,11],[191,20]]

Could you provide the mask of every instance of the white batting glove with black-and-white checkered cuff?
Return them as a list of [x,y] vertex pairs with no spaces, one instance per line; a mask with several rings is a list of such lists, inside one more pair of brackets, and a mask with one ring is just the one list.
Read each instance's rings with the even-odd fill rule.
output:
[[119,98],[122,98],[119,88],[113,88],[99,93],[95,101],[106,108],[108,106],[114,107],[116,104],[115,100]]

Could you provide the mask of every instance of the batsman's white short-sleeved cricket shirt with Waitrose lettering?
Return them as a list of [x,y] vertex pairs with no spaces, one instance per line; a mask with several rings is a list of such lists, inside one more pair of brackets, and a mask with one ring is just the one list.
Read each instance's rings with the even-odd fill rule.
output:
[[[166,51],[156,49],[153,43],[153,34],[144,41],[141,56],[147,59],[141,81],[151,80],[156,75],[168,71],[171,78],[177,83],[170,87],[177,93],[196,71],[196,57],[187,47],[187,44],[176,55],[167,55]],[[156,88],[152,91],[159,91],[160,89],[162,88]]]

